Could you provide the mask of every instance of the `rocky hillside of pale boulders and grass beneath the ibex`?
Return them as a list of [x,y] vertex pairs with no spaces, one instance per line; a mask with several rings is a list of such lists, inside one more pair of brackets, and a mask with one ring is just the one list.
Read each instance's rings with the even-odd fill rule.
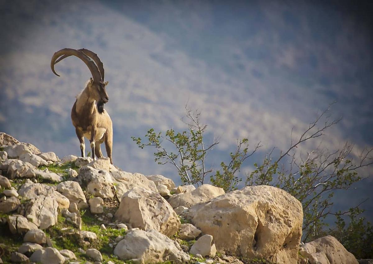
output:
[[41,153],[0,133],[0,263],[358,263],[333,237],[300,245],[285,191],[227,194]]

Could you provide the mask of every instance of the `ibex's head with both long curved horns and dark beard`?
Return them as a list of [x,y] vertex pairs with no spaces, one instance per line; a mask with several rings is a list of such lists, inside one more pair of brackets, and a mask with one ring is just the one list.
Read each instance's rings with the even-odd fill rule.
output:
[[[104,104],[109,101],[109,96],[106,92],[106,85],[109,84],[109,82],[104,82],[104,66],[100,58],[98,58],[97,54],[85,48],[81,48],[80,50],[75,50],[72,48],[63,48],[62,50],[59,50],[53,54],[53,57],[50,62],[52,72],[55,75],[60,76],[54,70],[54,65],[60,62],[61,60],[65,59],[66,57],[72,55],[81,59],[90,69],[93,77],[90,79],[90,82],[88,83],[90,97],[97,101],[98,112],[102,113],[104,109]],[[91,58],[93,60],[91,60]]]

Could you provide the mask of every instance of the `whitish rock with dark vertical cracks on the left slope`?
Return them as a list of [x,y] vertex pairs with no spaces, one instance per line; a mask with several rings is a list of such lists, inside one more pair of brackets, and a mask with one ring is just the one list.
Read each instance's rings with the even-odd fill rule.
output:
[[57,223],[58,202],[50,196],[40,195],[26,204],[25,216],[40,229],[47,229]]

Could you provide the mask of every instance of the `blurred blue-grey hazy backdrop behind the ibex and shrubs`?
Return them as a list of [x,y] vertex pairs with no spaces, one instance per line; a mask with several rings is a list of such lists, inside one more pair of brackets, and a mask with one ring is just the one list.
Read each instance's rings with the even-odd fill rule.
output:
[[[0,131],[79,155],[70,110],[90,72],[72,57],[56,66],[61,77],[49,65],[55,51],[84,47],[104,63],[123,170],[180,182],[130,136],[185,129],[187,103],[220,138],[210,163],[226,160],[237,138],[263,142],[242,173],[273,147],[285,150],[291,129],[296,138],[333,101],[331,118],[343,119],[323,147],[350,141],[358,152],[373,146],[371,11],[341,1],[0,1]],[[339,203],[371,196],[371,179]]]

